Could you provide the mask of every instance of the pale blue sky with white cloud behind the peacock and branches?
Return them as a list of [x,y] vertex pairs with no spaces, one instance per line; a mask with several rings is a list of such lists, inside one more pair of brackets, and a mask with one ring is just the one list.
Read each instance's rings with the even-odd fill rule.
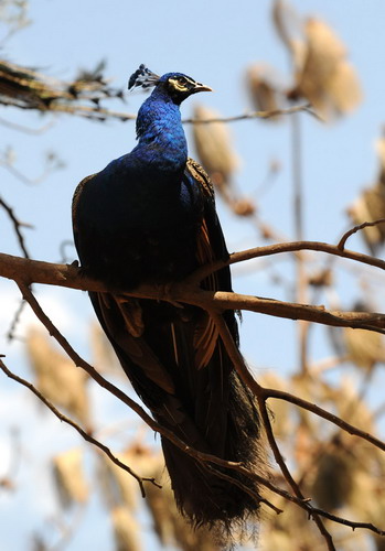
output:
[[[320,15],[331,24],[346,44],[349,57],[356,67],[364,90],[360,108],[333,125],[322,126],[306,115],[301,117],[306,187],[304,237],[335,242],[349,226],[344,214],[346,206],[364,185],[372,183],[377,170],[373,143],[379,136],[385,116],[385,3],[381,0],[365,3],[361,0],[292,0],[291,3],[301,13]],[[181,71],[214,88],[214,94],[196,98],[196,101],[220,110],[224,116],[250,109],[244,82],[245,71],[252,63],[269,63],[284,79],[290,82],[289,58],[272,28],[269,0],[39,0],[31,1],[30,4],[32,24],[15,34],[3,46],[2,54],[14,63],[38,66],[42,72],[61,79],[69,79],[78,68],[93,68],[101,58],[107,60],[106,73],[118,87],[126,86],[128,76],[140,63],[146,63],[157,73]],[[117,104],[115,107],[136,112],[142,100],[140,94],[130,95],[126,105]],[[183,105],[185,116],[191,112],[194,101],[195,98]],[[34,114],[2,107],[0,117],[31,127],[39,127],[45,121]],[[231,130],[234,147],[242,158],[236,181],[245,194],[253,194],[264,181],[271,159],[278,159],[281,163],[282,170],[271,190],[255,198],[261,217],[288,237],[292,236],[288,121],[280,125],[243,121],[232,125]],[[186,129],[186,133],[191,142],[190,129]],[[32,256],[41,260],[58,261],[60,244],[72,238],[71,199],[77,182],[133,147],[133,125],[119,121],[98,125],[63,115],[39,138],[6,128],[1,128],[1,147],[12,145],[18,156],[18,168],[31,176],[41,172],[44,152],[47,150],[56,151],[66,163],[65,169],[53,173],[39,186],[24,185],[1,171],[3,198],[17,208],[20,219],[35,226],[33,230],[25,230]],[[193,153],[192,148],[191,152]],[[218,210],[229,250],[261,244],[250,225],[235,219],[221,201]],[[11,228],[6,217],[1,216],[3,229],[0,250],[18,253]],[[364,250],[360,237],[353,237],[349,246]],[[68,253],[71,255],[71,249]],[[274,270],[288,279],[292,276],[291,262],[287,257],[277,258]],[[240,272],[239,268],[234,270],[235,276],[238,273],[235,277],[235,290],[292,300],[288,291],[271,284],[269,270],[260,269],[247,276]],[[338,289],[346,306],[357,294],[356,280],[357,272],[352,273],[345,269],[339,271]],[[378,281],[382,282],[381,276]],[[0,282],[0,285],[3,304],[0,327],[4,333],[9,324],[9,312],[18,304],[18,292],[12,283]],[[372,294],[381,304],[379,285],[373,283],[372,287]],[[40,288],[39,298],[46,304],[49,314],[72,344],[87,357],[87,327],[93,313],[85,293]],[[26,313],[23,326],[31,320],[32,315]],[[279,345],[272,341],[272,336],[277,338],[277,335]],[[296,326],[292,322],[245,316],[242,328],[243,350],[256,375],[264,372],[266,368],[274,368],[278,374],[296,369],[298,358],[295,337]],[[7,354],[9,367],[25,374],[22,345],[9,345],[3,339],[1,342],[3,348],[0,352]],[[311,342],[314,357],[322,358],[330,354],[325,342],[324,331],[314,329]],[[47,415],[42,417],[33,398],[22,389],[4,379],[1,379],[0,389],[0,414],[11,415],[14,422],[23,425],[24,410],[20,411],[14,404],[22,400],[29,412],[30,419],[24,430],[26,434],[33,435],[33,441],[25,445],[28,454],[34,457],[33,462],[36,446],[42,446],[42,456],[47,457],[51,450],[65,449],[68,442],[74,442],[71,431],[50,421]],[[100,402],[100,408],[105,408],[104,402]],[[109,415],[108,412],[106,415]],[[46,445],[47,440],[50,445]],[[3,450],[7,449],[7,430],[0,436],[1,445]],[[29,480],[26,467],[21,468],[20,487],[26,485],[28,493],[19,491],[10,498],[0,495],[2,544],[9,545],[3,548],[4,551],[23,548],[22,542],[47,507],[44,499],[41,499],[39,510],[33,510],[32,496],[36,489]],[[36,479],[45,487],[44,469],[36,465],[34,468],[39,472]],[[15,511],[21,506],[29,515],[18,536],[19,540],[13,541],[18,547],[12,547],[11,534],[14,533],[14,522],[19,518]],[[93,514],[97,515],[97,511]],[[105,522],[100,521],[95,527],[95,542],[101,545],[101,542],[107,541],[106,534]],[[76,551],[82,549],[81,545],[82,542],[75,539],[67,549]]]

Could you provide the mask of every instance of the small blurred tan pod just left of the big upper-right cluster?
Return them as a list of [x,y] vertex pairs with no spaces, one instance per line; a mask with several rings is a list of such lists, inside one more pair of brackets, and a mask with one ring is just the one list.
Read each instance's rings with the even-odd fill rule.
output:
[[[279,105],[278,85],[272,68],[269,65],[255,64],[247,69],[247,88],[254,108],[257,111],[276,111],[282,106]],[[263,120],[279,120],[279,115]]]

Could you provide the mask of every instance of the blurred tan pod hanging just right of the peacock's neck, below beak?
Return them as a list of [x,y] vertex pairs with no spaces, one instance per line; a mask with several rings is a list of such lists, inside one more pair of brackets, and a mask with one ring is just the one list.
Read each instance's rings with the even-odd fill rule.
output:
[[[216,119],[220,114],[202,105],[195,106],[194,119]],[[193,125],[193,138],[197,156],[207,171],[213,183],[224,186],[232,180],[234,171],[239,165],[231,140],[228,128],[224,122]]]

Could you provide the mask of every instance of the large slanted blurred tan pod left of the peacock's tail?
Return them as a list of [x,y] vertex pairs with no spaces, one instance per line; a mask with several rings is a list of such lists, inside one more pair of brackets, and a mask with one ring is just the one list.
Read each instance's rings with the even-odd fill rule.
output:
[[82,423],[89,424],[85,371],[58,353],[50,339],[33,327],[26,336],[26,352],[39,390],[55,406],[65,408]]

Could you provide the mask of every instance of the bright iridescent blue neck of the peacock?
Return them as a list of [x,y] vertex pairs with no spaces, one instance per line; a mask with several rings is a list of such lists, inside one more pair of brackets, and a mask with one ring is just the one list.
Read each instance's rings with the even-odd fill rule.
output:
[[131,155],[157,171],[181,172],[188,160],[181,114],[163,89],[156,88],[139,109],[138,145]]

